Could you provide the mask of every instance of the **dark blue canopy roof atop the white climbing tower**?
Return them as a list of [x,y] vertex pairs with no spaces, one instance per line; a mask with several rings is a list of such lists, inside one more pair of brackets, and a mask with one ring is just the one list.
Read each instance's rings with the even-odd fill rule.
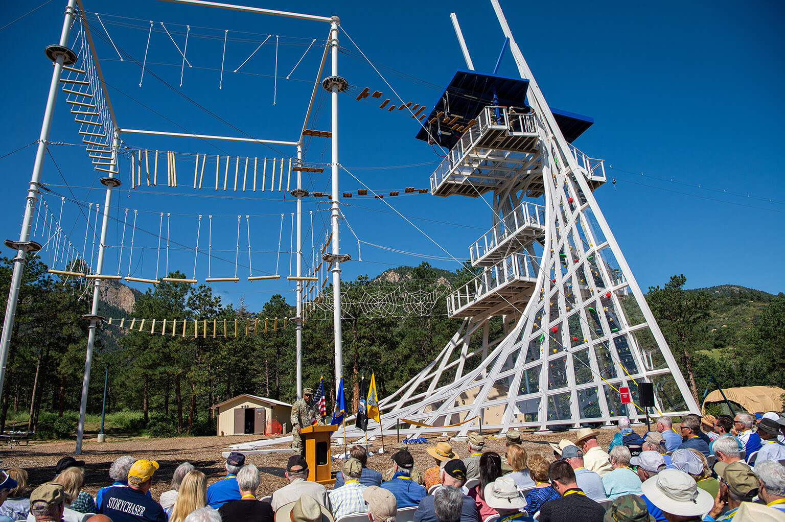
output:
[[[466,126],[480,114],[486,105],[527,107],[528,87],[529,81],[523,78],[509,78],[458,69],[422,123],[430,131],[436,143],[445,148],[452,148],[461,137],[461,134],[453,130],[453,127]],[[551,108],[551,112],[569,142],[574,141],[594,122],[588,116],[572,112],[553,108]],[[442,114],[443,119],[441,121],[436,119],[431,123],[440,113],[444,113]],[[449,118],[449,124],[444,123],[445,115]],[[428,133],[422,127],[416,137],[422,141],[429,140]]]

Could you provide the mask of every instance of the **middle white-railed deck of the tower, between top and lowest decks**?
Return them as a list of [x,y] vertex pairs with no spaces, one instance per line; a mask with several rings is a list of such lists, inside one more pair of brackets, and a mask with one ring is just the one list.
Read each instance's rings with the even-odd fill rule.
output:
[[545,235],[545,206],[524,202],[469,246],[473,266],[491,266]]

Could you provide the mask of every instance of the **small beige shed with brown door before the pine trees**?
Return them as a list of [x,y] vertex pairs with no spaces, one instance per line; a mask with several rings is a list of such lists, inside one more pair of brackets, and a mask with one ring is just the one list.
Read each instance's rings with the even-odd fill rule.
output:
[[292,405],[279,400],[243,393],[211,409],[217,416],[216,435],[277,435],[291,430]]

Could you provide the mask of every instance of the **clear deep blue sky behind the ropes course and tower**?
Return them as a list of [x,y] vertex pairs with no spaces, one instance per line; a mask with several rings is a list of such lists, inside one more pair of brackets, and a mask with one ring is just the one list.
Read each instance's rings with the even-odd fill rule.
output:
[[[51,75],[43,49],[57,42],[64,3],[54,0],[0,31],[5,49],[13,49],[6,53],[6,81],[0,86],[6,100],[0,155],[38,138]],[[148,0],[85,3],[92,13],[89,20],[119,126],[297,139],[316,78],[319,44],[327,37],[327,24]],[[490,2],[403,0],[394,6],[340,2],[333,11],[326,10],[330,6],[323,2],[248,3],[340,16],[345,32],[363,53],[384,66],[380,71],[392,88],[404,100],[428,108],[455,69],[466,67],[451,27],[451,12],[458,15],[478,71],[493,70],[503,42]],[[38,2],[7,5],[0,25],[35,5]],[[502,2],[502,7],[546,100],[554,108],[595,119],[595,124],[575,144],[588,155],[605,159],[609,182],[595,195],[641,287],[662,285],[670,275],[684,273],[688,287],[733,283],[774,293],[783,290],[780,274],[785,257],[781,241],[785,235],[785,182],[776,159],[776,150],[783,141],[782,5],[749,2],[739,9],[738,4],[730,2],[632,5],[508,0]],[[108,37],[94,13],[100,14]],[[140,87],[141,68],[130,57],[139,61],[144,57],[150,20],[154,20],[154,31],[147,49],[149,71]],[[182,86],[182,57],[160,22],[181,49],[186,24],[191,26],[186,57],[193,67],[184,67]],[[250,57],[268,35],[272,37]],[[109,38],[122,49],[123,61]],[[313,38],[317,42],[305,53]],[[341,34],[340,39],[347,53],[339,57],[339,73],[347,78],[354,94],[340,97],[339,161],[371,189],[385,194],[400,190],[402,194],[397,198],[385,197],[384,201],[357,197],[356,190],[362,184],[342,172],[341,192],[355,193],[352,199],[343,200],[342,210],[359,239],[425,256],[400,254],[367,244],[362,244],[358,255],[355,235],[342,224],[341,250],[352,254],[355,260],[361,259],[345,264],[343,277],[374,276],[386,268],[417,265],[423,260],[441,268],[458,268],[455,261],[441,259],[448,256],[440,246],[459,259],[466,257],[469,244],[491,224],[487,205],[460,196],[442,199],[403,195],[405,187],[428,187],[429,176],[440,158],[427,144],[414,139],[418,130],[414,119],[400,111],[380,109],[376,107],[378,101],[372,98],[355,100],[356,93],[364,87],[382,91],[382,99],[395,100],[395,96],[359,56],[346,34]],[[303,53],[305,57],[287,79]],[[221,78],[222,55],[225,66]],[[239,72],[233,72],[249,57]],[[517,76],[509,53],[499,73]],[[329,130],[329,99],[322,89],[316,107],[319,110],[309,127]],[[50,141],[79,141],[78,126],[70,116],[65,96],[60,93]],[[231,155],[230,190],[223,191],[222,162],[221,190],[216,192],[213,187],[194,191],[192,156],[178,162],[178,188],[159,183],[156,188],[129,190],[129,163],[123,160],[119,175],[123,186],[113,200],[108,238],[111,248],[104,272],[115,273],[118,264],[123,275],[129,272],[130,220],[133,210],[138,210],[131,259],[133,276],[153,278],[156,258],[159,276],[163,275],[166,261],[170,270],[178,268],[192,276],[197,215],[203,214],[196,256],[197,279],[207,276],[205,249],[210,243],[216,256],[210,262],[210,276],[233,276],[235,253],[238,258],[236,269],[241,283],[214,284],[214,290],[225,302],[242,301],[251,308],[261,308],[273,293],[281,293],[294,303],[293,287],[285,281],[290,274],[290,214],[295,210],[294,199],[277,192],[277,181],[272,195],[232,190],[236,156],[243,158],[242,177],[246,156],[260,160],[288,158],[294,155],[294,148],[276,146],[272,150],[257,144],[138,135],[125,135],[123,139],[133,148],[213,155],[212,170],[207,163],[205,184],[209,181],[214,185],[214,155]],[[89,231],[85,241],[86,229],[91,226],[86,225],[85,205],[103,205],[100,176],[90,168],[82,148],[53,145],[51,152],[62,177],[52,160],[47,159],[42,182],[53,185],[57,196],[46,195],[45,199],[58,214],[59,195],[67,198],[63,204],[63,227],[72,243],[80,249],[86,243],[89,252],[93,235]],[[329,162],[329,154],[329,142],[314,138],[307,147],[305,162]],[[35,146],[31,146],[0,159],[0,222],[4,238],[16,239],[19,235],[34,155]],[[161,164],[159,169],[159,176],[163,177],[166,168]],[[610,182],[613,178],[615,184]],[[329,192],[329,169],[306,176],[304,185],[311,192]],[[422,232],[386,203],[410,217]],[[312,237],[317,250],[325,237],[327,208],[325,199],[305,200],[304,210],[312,211],[314,219],[311,232],[310,214],[305,214],[307,266],[311,265]],[[126,209],[130,217],[121,257],[119,246]],[[161,212],[164,218],[159,254]],[[167,213],[171,214],[168,260]],[[212,235],[208,233],[209,214],[214,215]],[[280,214],[284,214],[283,227]],[[237,215],[241,216],[239,246]],[[249,275],[246,215],[250,216],[254,275],[277,272],[283,280],[245,282]],[[94,214],[90,221],[93,218]],[[44,259],[48,261],[46,252]]]

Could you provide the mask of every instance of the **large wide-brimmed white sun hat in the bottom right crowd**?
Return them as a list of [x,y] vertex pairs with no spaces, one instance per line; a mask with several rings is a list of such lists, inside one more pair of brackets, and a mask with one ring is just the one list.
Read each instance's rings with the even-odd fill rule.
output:
[[678,469],[663,469],[646,480],[641,491],[669,522],[700,522],[714,506],[714,498]]

